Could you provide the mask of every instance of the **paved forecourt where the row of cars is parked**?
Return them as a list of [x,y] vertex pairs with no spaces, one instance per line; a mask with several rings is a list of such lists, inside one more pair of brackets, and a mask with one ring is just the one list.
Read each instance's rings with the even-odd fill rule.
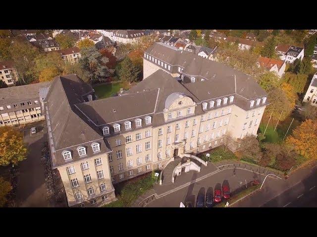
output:
[[[190,171],[186,175],[195,175],[195,171]],[[179,178],[181,178],[181,176]],[[232,193],[242,186],[245,187],[246,183],[250,183],[255,179],[259,179],[259,175],[248,170],[236,169],[236,175],[234,176],[233,169],[224,169],[210,177],[160,197],[150,202],[147,207],[179,207],[180,202],[184,204],[186,204],[186,202],[192,202],[193,205],[196,206],[198,194],[206,197],[206,193],[213,194],[215,188],[221,190],[222,185],[229,186],[230,192]],[[261,175],[261,180],[263,179],[264,176]]]

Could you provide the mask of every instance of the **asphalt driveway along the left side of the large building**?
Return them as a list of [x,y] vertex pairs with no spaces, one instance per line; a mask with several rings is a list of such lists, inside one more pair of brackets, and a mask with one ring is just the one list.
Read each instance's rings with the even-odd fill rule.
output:
[[[30,127],[34,126],[38,127],[38,133],[31,134]],[[28,124],[23,130],[28,156],[18,164],[16,204],[18,207],[48,207],[44,165],[41,162],[41,151],[47,141],[45,121]]]

